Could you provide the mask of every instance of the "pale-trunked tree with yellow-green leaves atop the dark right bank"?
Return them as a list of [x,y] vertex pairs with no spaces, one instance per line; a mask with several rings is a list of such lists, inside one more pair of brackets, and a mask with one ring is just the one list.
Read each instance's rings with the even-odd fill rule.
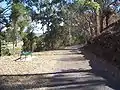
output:
[[[96,16],[96,35],[98,36],[108,26],[108,20],[112,14],[115,14],[119,7],[119,0],[77,0],[84,7],[83,12],[90,11]],[[86,10],[85,10],[86,8]],[[80,9],[81,10],[81,9]],[[106,19],[106,20],[105,20]],[[106,22],[106,26],[103,22]],[[94,23],[95,24],[95,23]]]

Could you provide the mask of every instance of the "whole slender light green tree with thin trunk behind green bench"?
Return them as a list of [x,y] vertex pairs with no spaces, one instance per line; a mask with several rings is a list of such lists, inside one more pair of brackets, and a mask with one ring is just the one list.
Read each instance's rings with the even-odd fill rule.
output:
[[[11,7],[11,20],[12,20],[12,41],[13,41],[13,50],[14,45],[17,46],[17,37],[18,27],[23,31],[24,27],[28,23],[28,9],[22,4],[19,0],[13,0],[12,7]],[[20,32],[21,32],[20,31]],[[16,42],[16,43],[15,43]]]

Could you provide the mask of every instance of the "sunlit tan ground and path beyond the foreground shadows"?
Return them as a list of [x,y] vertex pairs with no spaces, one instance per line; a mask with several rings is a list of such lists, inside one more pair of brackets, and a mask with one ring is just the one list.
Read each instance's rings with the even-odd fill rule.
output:
[[[71,47],[75,49],[74,47]],[[69,49],[66,48],[66,49]],[[78,54],[76,54],[78,53]],[[19,60],[19,55],[1,57],[0,60],[0,74],[35,74],[35,73],[48,73],[54,72],[58,68],[74,69],[78,67],[79,60],[84,59],[83,55],[79,54],[80,51],[74,52],[74,50],[54,50],[33,53],[32,60]],[[29,58],[28,56],[27,58]],[[23,56],[24,58],[24,56]],[[63,67],[63,61],[65,62]],[[78,61],[77,63],[74,61]],[[90,68],[86,61],[81,61],[79,67]],[[67,63],[67,64],[66,64]],[[62,64],[62,65],[61,65]]]

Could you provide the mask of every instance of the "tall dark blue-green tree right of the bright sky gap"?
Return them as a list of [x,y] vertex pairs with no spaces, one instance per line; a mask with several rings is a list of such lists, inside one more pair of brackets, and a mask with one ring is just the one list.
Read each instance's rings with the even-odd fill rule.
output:
[[40,12],[34,12],[33,15],[33,20],[40,21],[42,26],[47,28],[47,32],[44,33],[44,42],[45,47],[49,49],[59,46],[57,44],[59,41],[60,23],[63,22],[63,16],[60,14],[62,13],[63,1],[42,1],[40,7],[37,7]]

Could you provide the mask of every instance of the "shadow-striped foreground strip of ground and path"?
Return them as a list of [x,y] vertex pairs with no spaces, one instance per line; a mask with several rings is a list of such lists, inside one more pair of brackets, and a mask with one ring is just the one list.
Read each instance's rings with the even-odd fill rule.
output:
[[98,77],[91,78],[91,75],[91,70],[74,69],[42,74],[0,75],[0,90],[24,90],[43,87],[52,88],[52,90],[79,90],[88,87],[87,90],[94,90],[89,88],[107,84],[106,80]]

